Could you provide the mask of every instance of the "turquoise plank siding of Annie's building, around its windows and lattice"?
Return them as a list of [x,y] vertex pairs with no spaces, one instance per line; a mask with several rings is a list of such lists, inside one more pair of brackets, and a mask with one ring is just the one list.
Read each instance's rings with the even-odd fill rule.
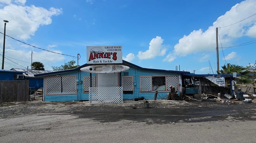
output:
[[[178,75],[178,73],[170,73],[170,72],[154,72],[154,71],[145,71],[140,70],[135,67],[130,67],[128,71],[129,76],[133,76],[134,80],[134,91],[133,94],[123,94],[123,99],[134,99],[138,97],[144,97],[145,99],[154,99],[155,91],[150,92],[140,92],[139,87],[139,77],[140,76],[152,76],[152,75]],[[76,75],[76,79],[79,80],[77,84],[77,94],[71,94],[71,95],[44,95],[45,101],[85,101],[89,100],[89,94],[83,93],[83,77],[84,76],[90,76],[90,73],[88,72],[82,72],[80,70],[73,71],[73,72],[67,72],[63,74],[58,74],[60,76],[69,76],[69,75]],[[121,76],[124,75],[124,72],[121,72]],[[52,75],[54,76],[54,75]],[[97,85],[97,76],[96,74],[92,74],[92,76],[95,77],[96,85]],[[44,77],[46,79],[46,77]],[[44,84],[46,85],[46,80],[44,80]],[[81,84],[82,83],[82,84]],[[181,84],[181,83],[179,83]],[[44,86],[44,91],[46,89],[46,86]],[[46,92],[44,92],[46,94]],[[168,92],[160,92],[158,93],[157,99],[166,98]]]

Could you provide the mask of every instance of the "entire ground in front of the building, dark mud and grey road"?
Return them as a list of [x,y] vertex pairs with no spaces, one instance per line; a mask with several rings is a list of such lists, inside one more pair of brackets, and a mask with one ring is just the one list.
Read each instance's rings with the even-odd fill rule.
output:
[[[253,103],[0,103],[0,142],[256,142]],[[133,109],[135,105],[137,109]]]

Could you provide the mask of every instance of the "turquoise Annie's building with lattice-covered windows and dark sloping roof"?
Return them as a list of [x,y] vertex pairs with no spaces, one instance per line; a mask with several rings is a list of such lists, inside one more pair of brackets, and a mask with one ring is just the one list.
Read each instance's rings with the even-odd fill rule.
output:
[[[170,86],[181,91],[182,74],[190,74],[185,71],[143,68],[124,60],[121,65],[130,69],[112,74],[96,74],[81,71],[81,68],[93,66],[84,64],[75,69],[35,74],[35,77],[43,77],[44,101],[90,101],[100,94],[106,103],[111,103],[112,97],[108,96],[112,94],[121,94],[121,102],[123,99],[138,97],[151,99],[156,91],[160,95],[158,98],[166,97]],[[99,100],[103,98],[94,101]]]

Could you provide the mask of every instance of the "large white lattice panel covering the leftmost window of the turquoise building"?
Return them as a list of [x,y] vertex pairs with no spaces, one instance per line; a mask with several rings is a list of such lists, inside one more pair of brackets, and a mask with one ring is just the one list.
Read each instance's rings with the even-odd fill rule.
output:
[[46,78],[47,94],[76,94],[76,76],[51,76]]

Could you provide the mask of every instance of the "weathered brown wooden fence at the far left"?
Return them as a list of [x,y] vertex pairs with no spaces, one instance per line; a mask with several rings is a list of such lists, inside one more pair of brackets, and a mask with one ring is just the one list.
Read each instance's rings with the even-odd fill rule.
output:
[[29,81],[0,81],[0,102],[29,101]]

